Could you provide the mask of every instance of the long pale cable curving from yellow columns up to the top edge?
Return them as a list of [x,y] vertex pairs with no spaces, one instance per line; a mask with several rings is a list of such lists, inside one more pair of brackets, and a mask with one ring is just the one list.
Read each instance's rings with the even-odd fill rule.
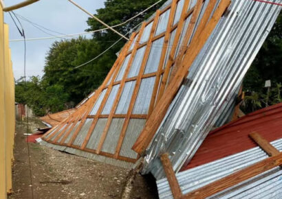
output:
[[[117,25],[113,25],[111,26],[112,28],[113,27],[118,27],[120,25],[124,25],[126,23],[129,23],[129,21],[132,21],[133,19],[135,19],[136,17],[140,16],[141,14],[143,14],[144,12],[147,12],[148,10],[150,10],[151,8],[153,8],[155,5],[157,5],[158,3],[160,3],[161,1],[164,1],[164,0],[160,0],[160,1],[157,1],[156,3],[153,3],[153,5],[149,6],[149,8],[143,10],[142,12],[136,14],[135,16],[131,17],[131,19],[127,19],[127,21],[124,21],[122,23],[119,23]],[[104,31],[104,30],[108,30],[109,28],[108,27],[105,27],[105,28],[102,28],[100,30],[92,30],[92,31],[89,31],[89,32],[81,32],[81,33],[76,33],[76,34],[62,34],[62,35],[58,35],[58,36],[50,36],[50,37],[39,37],[39,38],[26,38],[25,40],[45,40],[45,39],[53,39],[53,38],[65,38],[65,37],[74,37],[74,36],[80,36],[80,35],[85,35],[85,34],[92,34],[92,33],[95,33],[95,32],[101,32],[101,31]],[[23,39],[12,39],[10,40],[10,42],[17,42],[17,41],[22,41]]]

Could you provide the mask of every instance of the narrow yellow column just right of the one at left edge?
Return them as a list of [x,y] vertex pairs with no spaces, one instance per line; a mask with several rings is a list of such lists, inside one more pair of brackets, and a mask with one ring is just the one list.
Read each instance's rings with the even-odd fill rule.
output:
[[5,120],[6,120],[6,189],[7,193],[12,192],[12,84],[10,75],[10,60],[9,60],[9,27],[4,24],[4,97],[5,97]]

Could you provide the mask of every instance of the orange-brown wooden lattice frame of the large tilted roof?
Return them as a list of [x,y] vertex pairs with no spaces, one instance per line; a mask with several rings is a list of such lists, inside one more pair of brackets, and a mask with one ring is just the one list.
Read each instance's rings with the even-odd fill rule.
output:
[[[140,134],[140,137],[133,146],[133,150],[135,150],[135,152],[138,152],[138,154],[141,154],[144,149],[147,148],[147,145],[151,141],[153,134],[160,125],[160,121],[162,121],[162,118],[164,117],[169,104],[173,100],[175,93],[177,93],[177,90],[179,89],[182,80],[184,80],[185,75],[188,73],[188,69],[191,63],[199,53],[200,49],[202,49],[202,46],[208,39],[208,36],[213,31],[215,25],[217,25],[217,22],[221,18],[226,8],[228,8],[228,5],[230,3],[230,0],[221,0],[213,16],[210,17],[215,8],[215,3],[217,2],[216,0],[210,0],[208,7],[206,8],[206,12],[204,12],[202,20],[199,22],[199,25],[197,25],[196,29],[196,22],[199,18],[202,6],[204,5],[204,0],[197,0],[195,6],[193,6],[193,8],[190,8],[189,10],[188,7],[190,6],[192,0],[184,0],[180,19],[177,23],[174,24],[173,22],[175,14],[177,12],[177,3],[179,3],[180,1],[182,0],[173,0],[171,5],[167,5],[163,10],[157,10],[155,16],[153,16],[149,21],[142,23],[140,30],[138,30],[138,32],[134,32],[131,35],[129,42],[124,45],[122,51],[120,51],[118,59],[113,64],[113,67],[109,71],[109,74],[105,78],[105,81],[97,89],[95,94],[85,104],[80,106],[76,113],[72,114],[70,117],[61,122],[61,124],[58,124],[58,126],[55,126],[54,128],[52,128],[52,130],[47,132],[47,134],[45,134],[45,136],[43,137],[43,140],[56,145],[65,145],[70,148],[76,148],[85,152],[100,154],[102,156],[107,156],[113,159],[119,159],[131,163],[135,163],[135,161],[139,159],[139,155],[136,159],[131,159],[129,157],[120,155],[120,150],[122,148],[122,143],[124,142],[124,137],[126,137],[130,119],[149,119],[144,130]],[[160,17],[162,16],[162,14],[164,14],[164,12],[168,10],[169,20],[167,22],[166,31],[155,35]],[[186,30],[184,30],[185,21],[186,19],[188,19],[188,17],[191,17],[191,20]],[[151,23],[152,27],[149,34],[149,39],[146,43],[140,43],[145,28],[147,27],[147,25],[151,25]],[[171,45],[170,38],[173,31],[175,31],[175,37]],[[181,41],[180,38],[182,38],[182,34],[184,34],[184,39],[179,46],[178,44]],[[160,56],[160,62],[158,64],[158,70],[153,73],[144,74],[153,42],[160,38],[164,38],[164,44],[162,45],[162,52]],[[132,78],[127,78],[137,51],[142,47],[145,47],[145,50],[138,75]],[[171,49],[169,47],[171,47]],[[180,47],[178,54],[177,47]],[[166,58],[166,51],[169,50],[169,58]],[[177,56],[175,56],[175,54],[177,54]],[[129,62],[127,63],[127,67],[124,71],[122,79],[115,81],[120,69],[122,68],[125,58],[129,55],[131,55],[131,57],[129,58]],[[155,77],[155,83],[153,85],[148,113],[143,115],[133,114],[133,108],[138,98],[141,82],[145,78],[151,77]],[[120,102],[120,97],[122,95],[124,85],[126,84],[126,82],[131,81],[135,81],[135,86],[127,113],[122,115],[116,114],[116,108],[118,107],[118,103]],[[115,100],[113,101],[113,105],[111,106],[111,111],[109,115],[103,115],[102,110],[107,103],[111,91],[113,90],[113,86],[116,85],[120,86],[117,91]],[[98,98],[101,95],[102,91],[104,91],[105,89],[107,89],[107,91],[105,93],[105,96],[103,97],[102,102],[100,103],[100,107],[98,108],[96,115],[89,115],[92,108],[94,108],[94,105],[98,101]],[[98,148],[96,150],[91,150],[87,148],[87,143],[89,142],[91,133],[94,131],[94,128],[96,128],[96,124],[100,118],[107,118],[107,124],[105,125],[105,128],[100,137]],[[122,124],[122,130],[120,132],[115,152],[114,154],[111,154],[103,152],[102,147],[105,143],[107,133],[109,132],[111,122],[115,118],[122,118],[124,119],[124,122]],[[87,119],[93,119],[87,135],[83,140],[82,145],[74,145],[74,141],[78,136],[80,130],[83,128],[83,125],[85,124],[85,121]],[[78,122],[80,123],[78,126],[76,126]],[[74,128],[76,128],[76,130],[72,134],[72,138],[69,139],[67,143],[65,143]],[[57,132],[59,133],[57,134]]]

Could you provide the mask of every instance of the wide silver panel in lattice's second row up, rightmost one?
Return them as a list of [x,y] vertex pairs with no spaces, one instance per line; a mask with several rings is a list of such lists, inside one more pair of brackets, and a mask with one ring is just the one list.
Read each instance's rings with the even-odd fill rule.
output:
[[151,102],[155,77],[142,79],[133,114],[147,114]]

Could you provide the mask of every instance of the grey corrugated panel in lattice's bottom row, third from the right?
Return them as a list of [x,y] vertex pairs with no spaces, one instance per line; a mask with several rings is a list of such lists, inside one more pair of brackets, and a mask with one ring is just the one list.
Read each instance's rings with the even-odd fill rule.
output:
[[86,145],[86,148],[89,148],[91,150],[96,150],[98,148],[98,144],[100,142],[100,138],[107,124],[107,121],[108,121],[107,118],[98,119],[97,124],[94,128],[94,131],[91,133],[91,137]]

